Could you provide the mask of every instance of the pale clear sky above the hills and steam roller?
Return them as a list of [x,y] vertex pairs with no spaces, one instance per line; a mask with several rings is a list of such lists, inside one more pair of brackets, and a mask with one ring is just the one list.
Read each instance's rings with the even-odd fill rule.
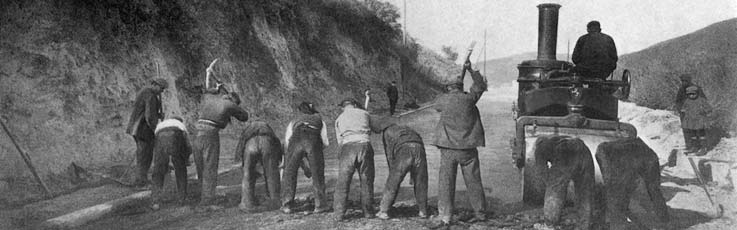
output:
[[[537,50],[537,5],[562,5],[558,21],[557,52],[572,52],[586,23],[601,22],[602,32],[614,38],[618,53],[647,48],[737,17],[737,0],[384,0],[400,9],[407,2],[407,31],[420,44],[439,51],[443,45],[462,53],[471,41],[482,50],[487,31],[486,59]],[[400,18],[404,24],[404,18]]]

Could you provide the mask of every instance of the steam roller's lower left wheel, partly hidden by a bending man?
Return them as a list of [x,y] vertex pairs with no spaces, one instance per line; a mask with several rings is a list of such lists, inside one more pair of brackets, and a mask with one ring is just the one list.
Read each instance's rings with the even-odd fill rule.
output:
[[545,201],[545,178],[543,170],[547,165],[535,164],[534,158],[525,161],[522,182],[522,201],[528,205],[543,205]]

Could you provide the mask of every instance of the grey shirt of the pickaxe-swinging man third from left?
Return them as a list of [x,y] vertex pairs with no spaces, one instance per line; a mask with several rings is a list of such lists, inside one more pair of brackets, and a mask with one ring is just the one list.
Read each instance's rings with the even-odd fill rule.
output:
[[200,109],[200,120],[213,122],[213,126],[224,129],[230,123],[230,117],[235,117],[239,121],[248,120],[248,112],[239,107],[233,101],[223,98],[220,95],[206,95],[205,103],[202,103]]

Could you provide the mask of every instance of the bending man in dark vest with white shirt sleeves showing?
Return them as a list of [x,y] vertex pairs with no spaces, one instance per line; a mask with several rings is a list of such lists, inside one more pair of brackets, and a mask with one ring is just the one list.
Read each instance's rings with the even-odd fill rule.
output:
[[[307,157],[312,174],[312,193],[315,196],[313,213],[322,213],[330,209],[325,199],[325,158],[323,149],[328,142],[328,131],[314,105],[302,102],[297,109],[300,115],[287,125],[284,136],[287,154],[284,173],[282,175],[282,212],[292,213],[294,195],[297,189],[297,169]],[[303,168],[305,170],[306,168]],[[307,173],[305,172],[305,175]]]

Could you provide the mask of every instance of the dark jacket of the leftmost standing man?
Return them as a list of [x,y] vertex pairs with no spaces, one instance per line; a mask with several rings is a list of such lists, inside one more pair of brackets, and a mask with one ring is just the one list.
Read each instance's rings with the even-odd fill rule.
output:
[[138,92],[133,103],[133,112],[128,120],[125,132],[143,140],[154,139],[154,129],[159,119],[164,117],[161,112],[161,99],[153,87],[143,88]]

